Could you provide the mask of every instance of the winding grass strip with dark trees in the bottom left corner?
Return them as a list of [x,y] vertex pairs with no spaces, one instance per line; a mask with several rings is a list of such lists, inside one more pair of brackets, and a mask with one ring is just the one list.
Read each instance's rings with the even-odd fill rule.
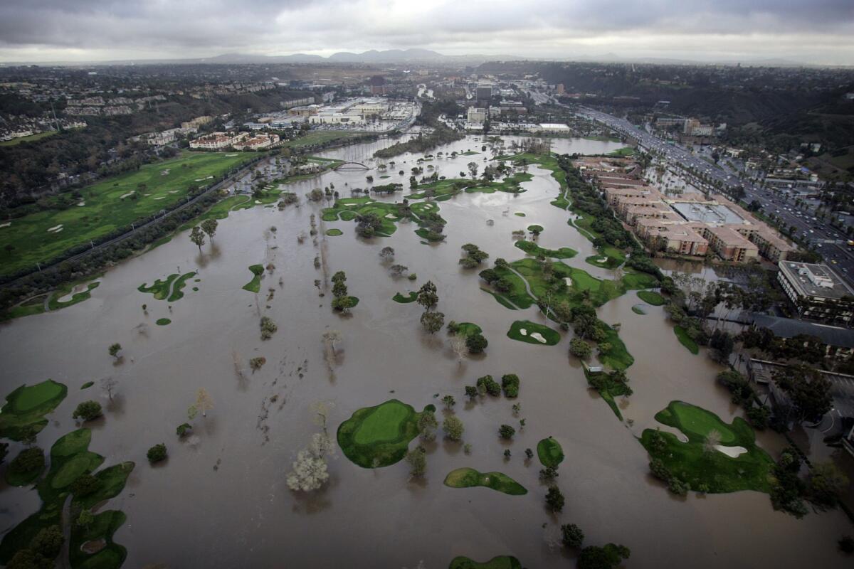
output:
[[[25,549],[41,529],[62,525],[62,508],[71,492],[71,485],[79,477],[93,473],[104,461],[103,456],[89,450],[90,441],[91,431],[78,429],[59,438],[50,448],[50,470],[36,487],[43,502],[42,507],[3,536],[0,542],[0,563],[8,563],[16,551]],[[122,462],[95,473],[95,490],[85,496],[73,496],[72,511],[92,508],[118,496],[133,467],[133,462]],[[98,514],[97,518],[102,516],[102,520],[97,519],[86,530],[72,528],[69,558],[73,569],[118,569],[124,562],[126,549],[113,541],[114,532],[125,520],[124,514],[108,510]],[[105,543],[97,553],[86,554],[80,550],[83,543],[94,540],[103,540]]]

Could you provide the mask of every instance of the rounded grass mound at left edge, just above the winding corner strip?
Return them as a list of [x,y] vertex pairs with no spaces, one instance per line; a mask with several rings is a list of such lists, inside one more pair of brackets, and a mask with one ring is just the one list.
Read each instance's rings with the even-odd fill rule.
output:
[[44,415],[56,409],[67,394],[67,386],[54,380],[18,387],[6,396],[0,409],[0,438],[21,441],[35,437],[48,424]]

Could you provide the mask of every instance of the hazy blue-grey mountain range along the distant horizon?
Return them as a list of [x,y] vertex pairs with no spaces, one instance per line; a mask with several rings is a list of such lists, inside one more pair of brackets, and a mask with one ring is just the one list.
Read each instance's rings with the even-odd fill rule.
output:
[[329,56],[296,53],[290,55],[258,55],[242,53],[225,53],[213,57],[182,58],[182,59],[138,59],[138,60],[114,60],[114,61],[17,61],[0,63],[0,67],[13,67],[18,65],[57,65],[68,67],[89,67],[108,65],[249,65],[270,63],[352,63],[352,64],[465,64],[478,65],[486,61],[582,61],[601,63],[657,63],[661,65],[735,65],[741,63],[748,66],[765,67],[820,67],[801,61],[792,61],[784,58],[769,58],[757,60],[687,60],[667,57],[625,57],[614,53],[602,55],[570,55],[567,57],[524,57],[520,55],[444,55],[432,49],[369,49],[360,53],[352,51],[339,51]]

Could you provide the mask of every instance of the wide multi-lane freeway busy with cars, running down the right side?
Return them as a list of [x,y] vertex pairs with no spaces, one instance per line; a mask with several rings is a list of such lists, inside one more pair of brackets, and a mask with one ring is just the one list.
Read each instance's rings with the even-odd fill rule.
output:
[[[559,106],[566,107],[560,103]],[[798,235],[811,247],[821,252],[825,262],[833,265],[845,281],[854,283],[854,252],[847,246],[848,237],[829,224],[828,221],[813,217],[810,209],[805,212],[793,206],[786,195],[781,195],[772,189],[763,188],[756,184],[740,180],[734,172],[726,171],[721,166],[694,155],[685,148],[665,142],[650,132],[641,130],[626,119],[602,113],[588,107],[579,107],[576,113],[586,119],[595,120],[607,125],[611,130],[623,136],[632,137],[638,141],[638,147],[648,153],[658,154],[665,161],[680,165],[684,171],[698,171],[719,183],[724,188],[741,186],[744,188],[746,203],[756,200],[766,215],[774,213],[780,218],[781,227],[794,227]],[[712,191],[711,184],[699,183],[705,190]]]

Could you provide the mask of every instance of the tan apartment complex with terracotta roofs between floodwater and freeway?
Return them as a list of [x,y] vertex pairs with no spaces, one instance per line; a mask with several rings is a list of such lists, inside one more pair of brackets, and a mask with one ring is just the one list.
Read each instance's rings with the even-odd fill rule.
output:
[[734,263],[750,263],[760,255],[780,261],[794,250],[773,229],[720,195],[664,195],[640,179],[633,160],[588,157],[575,164],[652,251],[691,256],[711,252]]

